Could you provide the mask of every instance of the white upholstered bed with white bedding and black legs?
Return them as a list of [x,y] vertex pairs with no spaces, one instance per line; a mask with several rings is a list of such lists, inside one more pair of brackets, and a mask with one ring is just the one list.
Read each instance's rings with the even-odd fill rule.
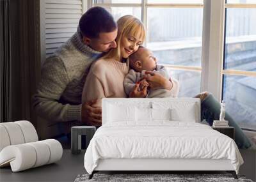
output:
[[197,98],[104,98],[84,167],[98,171],[227,171],[243,158],[230,137],[200,124]]

